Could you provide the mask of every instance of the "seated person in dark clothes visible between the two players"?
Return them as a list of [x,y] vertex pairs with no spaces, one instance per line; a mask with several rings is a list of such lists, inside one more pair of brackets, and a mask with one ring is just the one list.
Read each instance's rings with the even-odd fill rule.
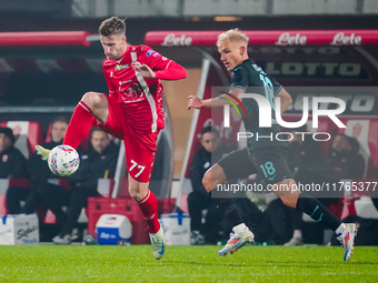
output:
[[[188,195],[191,244],[215,243],[217,240],[218,226],[223,216],[223,211],[217,208],[217,199],[211,199],[205,190],[202,178],[212,163],[219,161],[236,148],[221,143],[219,132],[211,125],[201,130],[200,143],[201,149],[195,153],[189,172],[192,186],[192,192]],[[205,223],[202,223],[202,210],[208,210]]]

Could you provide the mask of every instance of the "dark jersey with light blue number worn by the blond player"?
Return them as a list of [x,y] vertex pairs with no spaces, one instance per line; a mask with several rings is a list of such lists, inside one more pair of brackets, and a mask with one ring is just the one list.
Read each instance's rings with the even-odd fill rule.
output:
[[[246,93],[255,93],[265,97],[270,103],[270,114],[272,119],[271,128],[259,127],[259,107],[255,99],[243,98],[241,104],[246,109],[247,117],[242,114],[246,131],[252,137],[248,138],[249,149],[266,146],[287,146],[287,142],[278,141],[276,134],[280,132],[280,127],[276,121],[275,95],[281,90],[279,84],[271,75],[267,74],[251,59],[242,61],[231,73],[232,88],[243,89]],[[239,105],[240,113],[243,113]],[[268,111],[269,111],[268,110]],[[282,139],[282,137],[279,137]]]

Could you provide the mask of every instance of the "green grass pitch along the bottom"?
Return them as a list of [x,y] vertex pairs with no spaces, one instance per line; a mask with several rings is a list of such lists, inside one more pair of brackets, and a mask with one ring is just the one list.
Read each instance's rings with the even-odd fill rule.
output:
[[0,247],[0,282],[378,282],[378,247],[17,245]]

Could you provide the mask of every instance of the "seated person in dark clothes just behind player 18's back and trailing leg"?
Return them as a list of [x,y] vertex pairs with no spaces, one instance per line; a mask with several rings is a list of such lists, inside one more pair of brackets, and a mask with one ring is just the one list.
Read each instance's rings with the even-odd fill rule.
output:
[[[297,129],[286,129],[285,132],[292,134],[285,158],[294,179],[298,182],[298,174],[302,171],[310,172],[314,168],[319,168],[324,162],[324,158],[319,143],[307,134],[300,134],[307,132],[306,124]],[[311,182],[311,180],[301,180],[301,182]],[[302,212],[286,206],[280,199],[276,199],[269,203],[266,213],[275,243],[285,243],[285,245],[289,246],[304,244],[301,231]]]

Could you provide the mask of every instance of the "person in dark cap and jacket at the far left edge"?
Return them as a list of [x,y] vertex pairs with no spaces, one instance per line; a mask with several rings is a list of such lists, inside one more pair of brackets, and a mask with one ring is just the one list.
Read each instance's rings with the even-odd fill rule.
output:
[[0,178],[24,178],[26,158],[14,148],[12,129],[0,127]]

